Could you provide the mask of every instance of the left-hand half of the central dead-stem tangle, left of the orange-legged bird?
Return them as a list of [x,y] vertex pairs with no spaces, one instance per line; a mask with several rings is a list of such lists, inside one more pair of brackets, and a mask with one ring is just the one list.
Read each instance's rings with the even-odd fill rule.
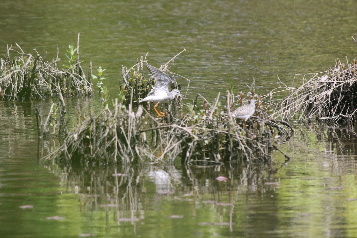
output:
[[131,163],[147,150],[145,138],[138,133],[142,107],[134,113],[122,101],[114,109],[105,108],[87,116],[79,113],[78,122],[62,145],[45,159],[55,158],[60,164],[97,165]]

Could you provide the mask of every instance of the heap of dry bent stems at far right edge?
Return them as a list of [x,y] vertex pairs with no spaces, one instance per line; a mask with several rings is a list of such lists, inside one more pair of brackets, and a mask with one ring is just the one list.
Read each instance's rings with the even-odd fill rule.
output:
[[357,61],[346,64],[336,60],[326,72],[304,74],[300,87],[283,85],[277,90],[289,91],[273,117],[296,121],[323,120],[348,122],[356,120]]

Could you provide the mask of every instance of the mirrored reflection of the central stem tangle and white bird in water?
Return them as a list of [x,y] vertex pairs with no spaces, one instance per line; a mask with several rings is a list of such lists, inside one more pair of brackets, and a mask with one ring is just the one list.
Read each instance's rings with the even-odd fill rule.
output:
[[[217,232],[237,231],[241,226],[242,203],[253,206],[252,211],[262,209],[250,201],[255,201],[257,195],[273,194],[278,184],[272,180],[276,169],[272,172],[267,164],[180,169],[174,166],[67,167],[64,171],[67,172],[58,175],[67,192],[78,197],[82,212],[105,214],[108,231],[114,220],[121,228],[127,227],[125,222],[129,222],[134,234],[150,229],[152,217],[166,225],[173,218],[194,219],[188,229],[199,233],[212,226]],[[228,179],[218,181],[218,176]],[[255,223],[257,219],[252,216],[246,222]]]

